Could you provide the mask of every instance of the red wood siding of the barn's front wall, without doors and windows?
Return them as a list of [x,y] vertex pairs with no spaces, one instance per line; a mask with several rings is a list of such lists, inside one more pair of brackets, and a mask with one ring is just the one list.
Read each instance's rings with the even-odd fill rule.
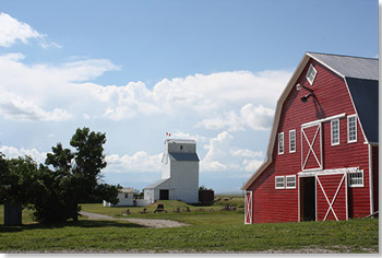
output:
[[[307,70],[312,63],[317,70],[313,85],[306,79]],[[307,103],[300,98],[309,92],[302,89],[297,92],[294,87],[285,99],[279,117],[278,132],[284,132],[284,154],[277,154],[277,133],[273,151],[272,163],[248,187],[253,191],[253,223],[298,221],[298,186],[296,189],[275,189],[275,176],[297,175],[301,172],[301,125],[318,119],[346,113],[339,119],[339,144],[331,145],[331,122],[322,122],[323,169],[360,167],[363,169],[365,187],[348,188],[351,199],[351,216],[363,216],[370,213],[369,195],[369,151],[357,120],[357,142],[347,143],[347,116],[356,114],[344,80],[317,62],[310,60],[300,74],[296,84],[300,83],[314,91],[315,97],[309,97]],[[296,130],[296,152],[289,153],[289,130]],[[302,144],[305,144],[302,142]],[[308,148],[308,149],[307,149]],[[313,145],[319,151],[319,144]],[[303,152],[309,151],[308,144]],[[318,155],[319,157],[319,155]],[[313,166],[313,156],[309,157],[309,166]],[[298,185],[298,177],[296,179]],[[350,215],[349,213],[349,215]]]

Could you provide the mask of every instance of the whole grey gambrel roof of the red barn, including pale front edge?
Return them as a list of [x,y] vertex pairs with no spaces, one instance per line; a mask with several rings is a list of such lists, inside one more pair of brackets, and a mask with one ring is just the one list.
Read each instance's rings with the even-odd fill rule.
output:
[[349,95],[357,112],[362,132],[368,143],[378,144],[378,119],[379,119],[379,82],[378,82],[378,59],[350,57],[320,52],[306,52],[296,71],[291,75],[287,86],[284,89],[276,105],[275,116],[271,129],[270,141],[265,155],[265,161],[255,171],[250,179],[241,187],[246,190],[258,176],[271,164],[274,143],[278,128],[282,107],[290,91],[296,86],[296,82],[310,58],[317,60],[327,69],[342,77],[349,90]]

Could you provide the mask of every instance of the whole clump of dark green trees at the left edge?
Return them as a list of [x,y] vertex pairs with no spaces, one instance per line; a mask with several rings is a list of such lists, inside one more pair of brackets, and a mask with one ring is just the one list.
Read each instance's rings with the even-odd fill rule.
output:
[[102,183],[105,142],[105,133],[79,128],[73,152],[59,142],[39,166],[28,156],[5,160],[0,153],[0,201],[32,204],[35,220],[45,223],[76,221],[79,203],[89,199],[117,203],[121,186]]

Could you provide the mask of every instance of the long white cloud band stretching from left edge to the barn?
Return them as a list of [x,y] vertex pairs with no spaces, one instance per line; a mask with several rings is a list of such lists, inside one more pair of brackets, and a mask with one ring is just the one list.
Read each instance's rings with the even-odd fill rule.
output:
[[[153,89],[141,81],[103,86],[89,81],[120,69],[107,59],[72,60],[51,66],[25,64],[25,58],[22,54],[0,56],[0,90],[45,110],[58,108],[72,117],[86,114],[86,118],[119,121],[140,115],[190,116],[193,125],[228,131],[268,128],[271,109],[264,105],[274,105],[277,92],[290,74],[286,71],[232,71],[164,79]],[[243,103],[253,104],[242,106]]]

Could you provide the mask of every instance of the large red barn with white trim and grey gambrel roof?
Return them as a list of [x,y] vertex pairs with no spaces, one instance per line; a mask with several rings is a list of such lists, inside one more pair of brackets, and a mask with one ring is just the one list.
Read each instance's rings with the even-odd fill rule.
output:
[[277,101],[246,224],[378,211],[378,59],[307,52]]

